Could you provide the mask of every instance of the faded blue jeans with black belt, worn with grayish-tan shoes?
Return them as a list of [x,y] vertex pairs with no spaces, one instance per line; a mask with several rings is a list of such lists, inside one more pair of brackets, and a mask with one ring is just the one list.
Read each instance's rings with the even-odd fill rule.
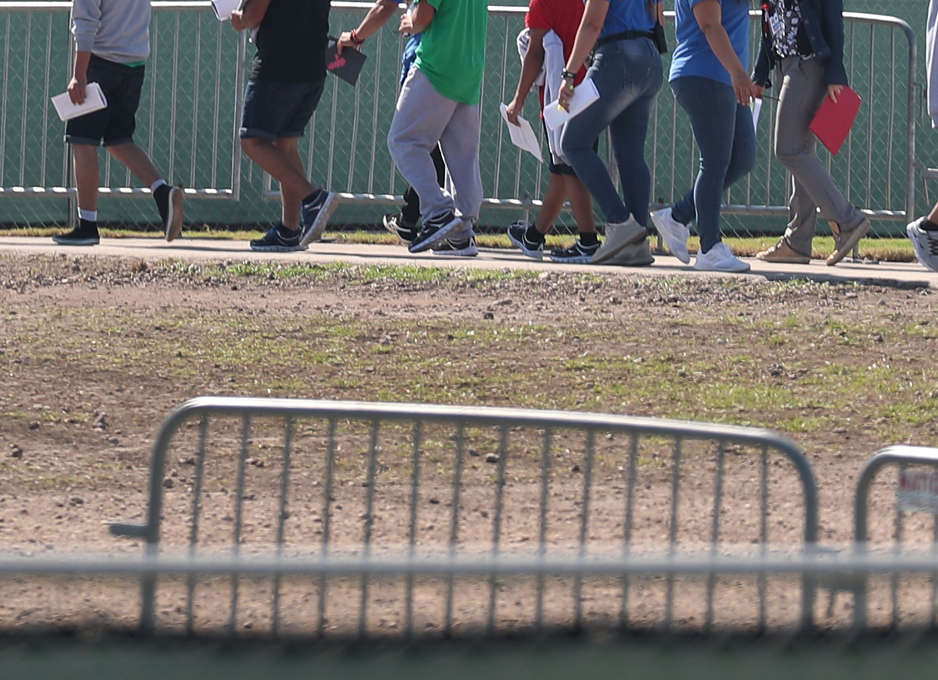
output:
[[[631,215],[645,226],[651,173],[644,159],[644,144],[661,89],[661,55],[648,38],[611,42],[597,50],[586,77],[596,83],[599,99],[567,123],[560,140],[564,156],[593,194],[607,222],[625,222]],[[594,146],[605,128],[609,128],[619,166],[624,201]]]

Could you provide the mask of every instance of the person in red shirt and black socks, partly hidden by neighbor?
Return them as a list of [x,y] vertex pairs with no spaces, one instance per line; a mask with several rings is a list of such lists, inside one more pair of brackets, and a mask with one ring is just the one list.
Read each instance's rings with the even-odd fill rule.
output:
[[[518,116],[524,108],[524,100],[541,75],[546,84],[538,87],[537,97],[540,104],[538,115],[543,123],[545,89],[550,86],[553,93],[560,89],[563,68],[573,50],[582,14],[582,0],[531,0],[524,16],[527,47],[522,59],[522,74],[515,96],[507,106],[508,122],[511,125],[520,125]],[[522,40],[521,37],[519,39]],[[545,58],[547,53],[551,53],[551,59]],[[579,68],[573,81],[574,85],[580,84],[585,75],[586,68]],[[551,155],[548,164],[551,181],[547,193],[544,194],[544,201],[534,224],[524,220],[515,222],[508,227],[508,240],[526,256],[535,260],[543,259],[545,237],[569,197],[580,237],[569,248],[554,249],[551,260],[591,263],[594,252],[599,248],[596,220],[593,218],[593,197],[566,162],[567,159],[559,148],[559,134],[552,135],[547,126],[544,126],[544,133]]]

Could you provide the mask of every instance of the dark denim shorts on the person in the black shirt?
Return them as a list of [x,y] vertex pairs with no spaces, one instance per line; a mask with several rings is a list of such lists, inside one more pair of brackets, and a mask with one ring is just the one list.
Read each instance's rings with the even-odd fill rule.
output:
[[302,137],[324,88],[325,79],[311,83],[248,81],[239,136],[268,142],[281,137]]

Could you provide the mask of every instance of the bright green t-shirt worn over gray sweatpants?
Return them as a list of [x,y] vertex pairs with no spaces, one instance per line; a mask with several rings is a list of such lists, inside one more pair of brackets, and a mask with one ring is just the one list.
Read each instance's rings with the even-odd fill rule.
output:
[[477,104],[482,98],[487,0],[420,0],[436,10],[416,51],[416,68],[446,98]]

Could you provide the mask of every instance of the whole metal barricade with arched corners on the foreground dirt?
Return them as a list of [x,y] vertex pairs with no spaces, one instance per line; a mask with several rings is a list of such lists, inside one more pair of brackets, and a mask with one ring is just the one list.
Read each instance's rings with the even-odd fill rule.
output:
[[[719,559],[737,544],[765,556],[770,541],[815,554],[817,511],[808,461],[770,431],[507,408],[200,398],[159,432],[146,522],[112,530],[143,538],[151,558],[174,550],[197,558],[226,547],[238,559],[273,546],[277,558],[321,561],[318,579],[287,585],[278,575],[272,590],[258,582],[242,588],[236,575],[227,585],[208,584],[214,597],[207,604],[195,597],[190,575],[185,592],[161,600],[185,602],[176,625],[189,631],[221,626],[226,600],[232,633],[239,607],[269,612],[273,634],[289,628],[284,619],[319,634],[343,625],[346,633],[386,624],[411,635],[434,626],[450,634],[474,625],[496,632],[598,621],[705,630],[719,625],[731,600],[747,612],[740,626],[809,628],[815,582],[807,574],[776,583],[762,573],[744,585],[719,581],[718,569],[688,583],[668,569],[658,579],[630,580],[624,567],[593,582],[589,569],[564,567],[552,578],[544,567],[528,569],[533,582],[513,582],[518,567],[497,569],[503,559],[558,565],[566,554],[582,564],[658,549],[666,558],[698,550]],[[402,584],[371,580],[368,568],[342,576],[342,559],[380,565],[393,555],[467,562],[431,583],[415,576],[439,571],[400,564]],[[330,569],[330,558],[338,566]],[[457,580],[479,564],[492,565],[487,578]],[[144,576],[144,630],[157,625],[161,589],[156,576]],[[777,608],[786,597],[792,607]],[[160,626],[168,624],[160,617]]]

